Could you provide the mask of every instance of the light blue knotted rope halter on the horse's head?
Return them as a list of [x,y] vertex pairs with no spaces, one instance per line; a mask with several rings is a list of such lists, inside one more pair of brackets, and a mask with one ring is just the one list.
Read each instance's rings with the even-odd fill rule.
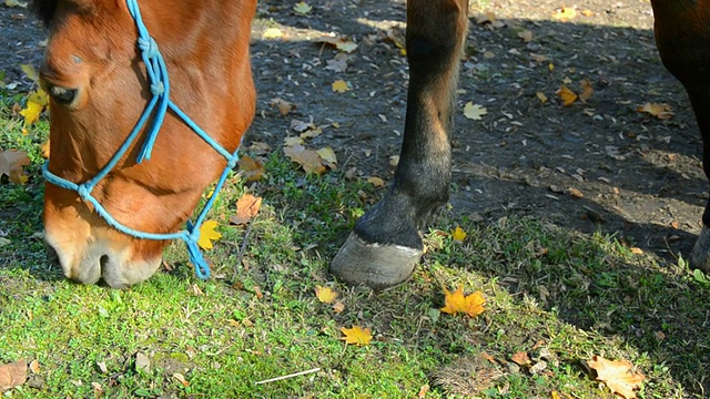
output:
[[[222,145],[210,137],[202,129],[200,129],[200,126],[197,126],[197,124],[195,124],[184,112],[182,112],[182,110],[180,110],[180,108],[178,108],[178,105],[175,105],[170,100],[170,79],[168,76],[168,68],[165,65],[165,61],[163,60],[163,55],[160,53],[155,40],[153,40],[153,38],[151,38],[151,35],[148,33],[148,29],[145,28],[145,24],[143,23],[143,20],[141,18],[141,11],[138,7],[138,0],[126,0],[126,3],[131,16],[135,20],[135,27],[138,28],[139,37],[138,47],[141,50],[141,58],[143,59],[143,63],[145,63],[145,70],[151,83],[151,93],[153,94],[153,96],[143,111],[143,114],[139,119],[138,123],[135,124],[135,127],[133,127],[131,133],[128,135],[123,144],[119,147],[109,163],[106,163],[106,165],[103,166],[103,168],[99,171],[99,173],[93,178],[90,178],[81,184],[70,182],[50,172],[48,166],[49,161],[42,166],[42,175],[51,184],[65,190],[75,191],[81,200],[90,202],[93,205],[94,211],[101,217],[103,217],[103,219],[106,221],[109,225],[113,226],[115,229],[123,234],[128,234],[141,239],[162,241],[180,238],[184,241],[187,245],[187,252],[190,253],[190,262],[192,262],[195,267],[195,274],[199,278],[206,279],[210,277],[210,265],[207,265],[207,263],[205,262],[197,245],[197,241],[200,239],[200,226],[204,222],[207,212],[214,204],[217,193],[226,181],[229,172],[236,166],[239,156],[236,154],[236,151],[234,153],[230,153],[229,151],[224,150]],[[115,167],[121,157],[125,155],[131,144],[135,141],[135,137],[138,137],[139,133],[143,129],[150,116],[153,115],[152,122],[146,129],[145,140],[136,158],[136,163],[140,164],[143,161],[151,158],[151,152],[153,150],[153,145],[155,144],[158,133],[160,132],[160,129],[163,124],[163,120],[165,119],[168,109],[180,116],[187,126],[190,126],[202,140],[210,144],[217,153],[220,153],[220,155],[224,156],[224,158],[226,160],[226,167],[222,172],[222,175],[220,176],[220,180],[214,187],[214,192],[207,200],[204,208],[202,209],[202,212],[200,212],[194,223],[187,221],[187,226],[185,229],[169,234],[140,232],[128,227],[113,218],[113,216],[111,216],[106,208],[103,207],[99,203],[99,201],[91,195],[91,191],[103,177],[105,177],[113,170],[113,167]]]

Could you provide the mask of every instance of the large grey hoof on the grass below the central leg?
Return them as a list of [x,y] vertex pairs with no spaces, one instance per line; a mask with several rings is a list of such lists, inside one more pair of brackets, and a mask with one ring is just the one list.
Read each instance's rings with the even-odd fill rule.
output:
[[422,254],[402,245],[371,244],[351,233],[331,263],[331,273],[349,285],[381,290],[409,279]]

